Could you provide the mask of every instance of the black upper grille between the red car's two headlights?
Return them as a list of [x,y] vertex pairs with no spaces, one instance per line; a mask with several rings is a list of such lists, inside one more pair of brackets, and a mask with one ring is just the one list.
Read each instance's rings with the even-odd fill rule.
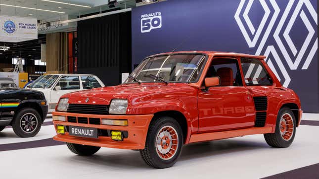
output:
[[108,105],[80,105],[69,104],[67,112],[82,114],[109,114]]

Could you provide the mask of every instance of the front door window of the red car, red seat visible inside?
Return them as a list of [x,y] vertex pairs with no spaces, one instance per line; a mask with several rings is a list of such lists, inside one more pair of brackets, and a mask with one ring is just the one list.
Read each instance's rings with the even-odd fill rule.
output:
[[242,86],[238,61],[236,59],[213,59],[205,77],[218,76],[221,86]]

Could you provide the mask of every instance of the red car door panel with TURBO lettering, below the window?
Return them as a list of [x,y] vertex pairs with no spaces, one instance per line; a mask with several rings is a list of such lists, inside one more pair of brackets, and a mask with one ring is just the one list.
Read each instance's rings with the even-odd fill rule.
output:
[[198,109],[199,132],[254,126],[254,102],[244,86],[218,86],[199,91]]

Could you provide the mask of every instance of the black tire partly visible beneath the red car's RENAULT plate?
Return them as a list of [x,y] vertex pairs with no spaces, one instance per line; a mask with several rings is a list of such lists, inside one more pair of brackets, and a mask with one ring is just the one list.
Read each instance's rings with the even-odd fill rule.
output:
[[66,145],[71,150],[71,152],[82,156],[93,155],[101,148],[99,146],[81,145],[76,143],[66,143]]

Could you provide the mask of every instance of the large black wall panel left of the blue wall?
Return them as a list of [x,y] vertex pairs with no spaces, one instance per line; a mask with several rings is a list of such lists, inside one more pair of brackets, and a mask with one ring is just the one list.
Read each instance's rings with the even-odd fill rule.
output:
[[120,84],[121,72],[131,71],[131,12],[80,21],[77,33],[78,73]]

